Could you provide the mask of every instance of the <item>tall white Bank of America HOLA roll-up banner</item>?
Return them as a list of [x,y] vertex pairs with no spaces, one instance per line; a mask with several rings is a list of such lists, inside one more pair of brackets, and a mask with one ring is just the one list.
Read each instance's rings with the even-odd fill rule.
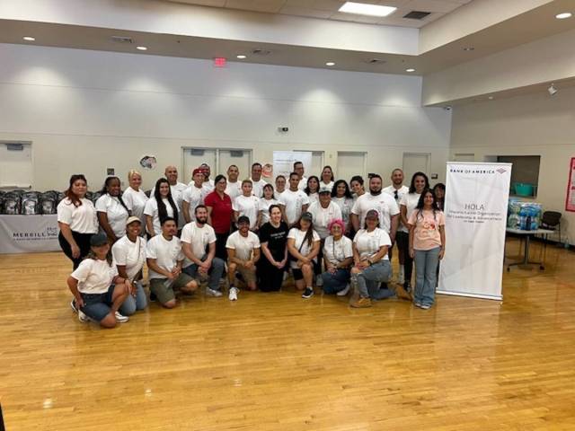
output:
[[438,293],[500,300],[511,163],[447,163]]

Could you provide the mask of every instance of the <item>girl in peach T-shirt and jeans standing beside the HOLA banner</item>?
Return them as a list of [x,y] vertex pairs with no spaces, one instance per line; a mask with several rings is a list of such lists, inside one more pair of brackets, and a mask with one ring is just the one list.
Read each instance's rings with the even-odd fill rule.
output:
[[433,191],[424,190],[409,219],[410,255],[415,259],[413,303],[424,310],[435,302],[438,263],[446,249],[445,224]]

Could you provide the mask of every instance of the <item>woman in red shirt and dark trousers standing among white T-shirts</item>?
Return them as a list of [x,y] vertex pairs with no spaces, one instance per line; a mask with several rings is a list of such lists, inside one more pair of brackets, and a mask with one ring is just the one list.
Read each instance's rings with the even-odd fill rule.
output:
[[214,182],[215,189],[204,199],[204,205],[208,208],[208,224],[216,233],[216,257],[227,260],[226,242],[230,236],[234,208],[232,198],[226,193],[226,177],[217,175]]

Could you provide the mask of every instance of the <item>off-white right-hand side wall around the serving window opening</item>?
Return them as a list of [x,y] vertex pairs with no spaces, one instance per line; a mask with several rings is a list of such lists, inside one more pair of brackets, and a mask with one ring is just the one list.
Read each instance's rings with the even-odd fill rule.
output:
[[451,155],[540,155],[536,202],[563,215],[562,230],[575,243],[575,213],[565,211],[571,157],[575,157],[575,88],[454,108]]

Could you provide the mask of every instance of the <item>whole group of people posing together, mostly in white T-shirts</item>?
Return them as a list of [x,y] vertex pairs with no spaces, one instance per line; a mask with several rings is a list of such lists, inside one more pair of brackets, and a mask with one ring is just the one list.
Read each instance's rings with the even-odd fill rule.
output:
[[[79,320],[111,328],[146,308],[145,264],[149,298],[167,309],[176,294],[193,295],[202,283],[206,295],[219,297],[227,280],[235,301],[240,287],[279,291],[289,273],[305,299],[317,286],[326,295],[352,290],[352,307],[397,296],[429,309],[445,252],[445,186],[430,189],[423,172],[404,186],[395,169],[389,187],[370,174],[366,189],[361,176],[334,180],[330,166],[319,178],[305,178],[303,163],[293,168],[274,188],[261,178],[261,163],[245,180],[235,165],[212,180],[204,163],[189,184],[168,166],[149,194],[130,171],[123,191],[118,177],[108,177],[95,205],[85,198],[84,175],[72,175],[57,220],[73,262],[67,285]],[[400,269],[391,288],[394,244]]]

